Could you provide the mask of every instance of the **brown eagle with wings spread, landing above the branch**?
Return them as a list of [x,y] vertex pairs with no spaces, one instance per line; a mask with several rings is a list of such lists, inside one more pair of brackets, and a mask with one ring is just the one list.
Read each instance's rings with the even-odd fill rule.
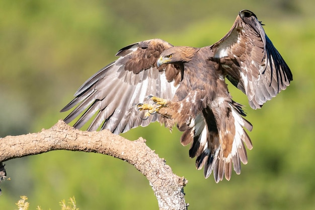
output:
[[249,10],[239,12],[218,42],[205,47],[173,46],[162,39],[120,49],[117,60],[88,79],[61,112],[75,107],[64,121],[89,131],[115,134],[159,121],[183,131],[181,144],[215,182],[229,180],[232,167],[241,173],[246,147],[253,148],[245,128],[243,106],[232,100],[225,78],[246,94],[253,109],[285,90],[293,80],[290,68]]

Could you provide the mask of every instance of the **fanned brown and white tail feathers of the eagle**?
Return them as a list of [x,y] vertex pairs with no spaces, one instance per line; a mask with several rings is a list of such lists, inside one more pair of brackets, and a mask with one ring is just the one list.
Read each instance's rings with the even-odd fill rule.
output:
[[204,167],[204,176],[208,178],[213,171],[215,182],[230,179],[233,169],[241,173],[241,162],[247,164],[244,146],[252,149],[252,142],[244,127],[252,130],[252,124],[238,103],[224,102],[219,107],[205,108],[195,119],[194,126],[186,130],[181,138],[182,145],[192,143],[189,150],[191,158],[196,157],[198,170]]

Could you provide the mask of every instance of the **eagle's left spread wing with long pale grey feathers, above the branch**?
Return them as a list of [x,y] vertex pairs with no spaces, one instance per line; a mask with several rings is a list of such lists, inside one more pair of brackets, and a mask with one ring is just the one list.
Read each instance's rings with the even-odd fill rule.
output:
[[159,69],[156,66],[160,54],[171,46],[161,39],[152,39],[119,50],[116,55],[121,57],[86,81],[61,110],[77,105],[64,121],[69,123],[84,112],[73,125],[75,128],[94,117],[88,130],[101,127],[118,134],[160,120],[155,114],[143,120],[144,113],[138,112],[135,105],[149,95],[169,100],[174,97],[181,81],[180,70],[173,64]]

